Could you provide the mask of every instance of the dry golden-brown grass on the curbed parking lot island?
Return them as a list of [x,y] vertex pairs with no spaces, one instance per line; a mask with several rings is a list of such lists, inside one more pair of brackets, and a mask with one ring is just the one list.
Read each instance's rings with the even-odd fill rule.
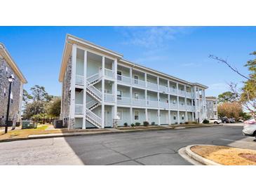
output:
[[256,165],[255,150],[229,146],[193,146],[191,151],[222,165]]

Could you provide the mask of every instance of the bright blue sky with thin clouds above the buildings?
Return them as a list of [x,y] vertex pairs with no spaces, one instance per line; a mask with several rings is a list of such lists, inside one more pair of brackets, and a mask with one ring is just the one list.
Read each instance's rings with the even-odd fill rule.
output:
[[227,58],[247,75],[243,64],[256,50],[256,27],[0,27],[0,42],[27,78],[26,90],[43,85],[51,95],[61,95],[58,76],[66,34],[121,53],[131,62],[208,85],[208,96],[228,90],[231,81],[243,81],[208,55]]

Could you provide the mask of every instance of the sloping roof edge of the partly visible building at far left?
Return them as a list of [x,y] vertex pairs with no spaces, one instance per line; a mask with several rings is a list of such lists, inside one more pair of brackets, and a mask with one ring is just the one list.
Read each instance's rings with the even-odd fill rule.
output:
[[19,67],[17,64],[14,62],[13,58],[11,57],[10,53],[8,53],[8,50],[4,46],[3,43],[0,43],[0,55],[4,57],[6,62],[10,65],[11,69],[15,72],[15,74],[20,78],[20,81],[22,83],[27,83],[27,79],[25,76],[23,76],[22,72],[20,71]]

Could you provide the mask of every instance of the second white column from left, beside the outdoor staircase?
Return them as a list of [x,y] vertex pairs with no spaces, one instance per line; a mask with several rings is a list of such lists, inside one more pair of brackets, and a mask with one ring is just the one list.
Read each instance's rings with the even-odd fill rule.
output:
[[86,129],[86,79],[87,79],[87,51],[84,51],[83,57],[83,129]]

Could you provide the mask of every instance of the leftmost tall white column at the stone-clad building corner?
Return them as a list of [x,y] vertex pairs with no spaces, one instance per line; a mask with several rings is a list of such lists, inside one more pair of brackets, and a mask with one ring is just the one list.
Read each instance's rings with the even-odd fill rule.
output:
[[71,92],[70,92],[70,107],[69,107],[69,128],[70,120],[74,119],[75,112],[75,97],[76,97],[76,44],[72,45],[72,72],[71,72]]

